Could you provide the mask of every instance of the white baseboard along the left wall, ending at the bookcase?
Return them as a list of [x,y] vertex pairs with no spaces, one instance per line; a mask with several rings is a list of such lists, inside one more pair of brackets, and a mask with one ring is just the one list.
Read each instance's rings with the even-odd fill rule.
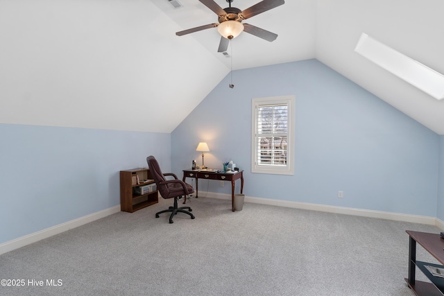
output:
[[120,204],[115,207],[110,207],[108,209],[104,209],[102,211],[98,211],[96,213],[68,221],[66,223],[43,229],[40,232],[35,232],[33,234],[28,234],[27,236],[16,238],[12,241],[7,241],[6,243],[0,244],[0,255],[18,249],[19,247],[24,247],[25,245],[35,243],[36,241],[41,241],[44,238],[49,238],[50,236],[66,232],[69,229],[85,225],[94,220],[99,220],[106,216],[110,216],[112,214],[118,213],[119,211]]

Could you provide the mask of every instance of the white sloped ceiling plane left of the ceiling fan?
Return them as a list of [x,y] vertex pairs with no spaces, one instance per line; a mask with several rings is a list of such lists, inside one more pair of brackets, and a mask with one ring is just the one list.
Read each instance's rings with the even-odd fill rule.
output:
[[0,122],[171,132],[230,69],[150,0],[0,0]]

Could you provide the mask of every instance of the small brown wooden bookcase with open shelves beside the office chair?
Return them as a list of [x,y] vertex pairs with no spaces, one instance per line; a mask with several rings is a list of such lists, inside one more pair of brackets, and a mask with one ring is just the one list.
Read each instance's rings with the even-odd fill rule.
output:
[[[120,171],[120,210],[133,213],[151,204],[157,204],[159,197],[152,179],[148,168]],[[145,180],[151,181],[144,182]],[[152,190],[144,192],[146,189]]]

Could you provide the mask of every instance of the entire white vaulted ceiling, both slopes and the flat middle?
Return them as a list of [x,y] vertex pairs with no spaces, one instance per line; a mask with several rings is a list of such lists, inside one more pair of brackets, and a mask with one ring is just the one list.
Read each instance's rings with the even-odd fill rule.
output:
[[[175,35],[217,21],[179,1],[0,0],[0,122],[171,132],[231,67],[216,28]],[[286,0],[248,19],[277,40],[242,33],[228,53],[233,69],[316,58],[444,134],[444,100],[354,51],[364,32],[444,73],[443,11],[442,0]]]

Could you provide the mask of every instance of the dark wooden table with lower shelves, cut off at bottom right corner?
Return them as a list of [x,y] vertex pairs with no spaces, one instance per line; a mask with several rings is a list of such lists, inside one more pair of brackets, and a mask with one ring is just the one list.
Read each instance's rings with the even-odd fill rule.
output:
[[[441,264],[444,264],[444,238],[439,234],[428,234],[426,232],[413,232],[406,230],[409,234],[409,278],[405,279],[407,284],[416,295],[444,295],[444,278],[434,277],[432,273],[425,268],[425,265],[443,268],[443,265],[416,261],[416,243],[419,243],[424,250],[432,254]],[[425,281],[416,281],[415,268],[430,280],[433,284]]]

